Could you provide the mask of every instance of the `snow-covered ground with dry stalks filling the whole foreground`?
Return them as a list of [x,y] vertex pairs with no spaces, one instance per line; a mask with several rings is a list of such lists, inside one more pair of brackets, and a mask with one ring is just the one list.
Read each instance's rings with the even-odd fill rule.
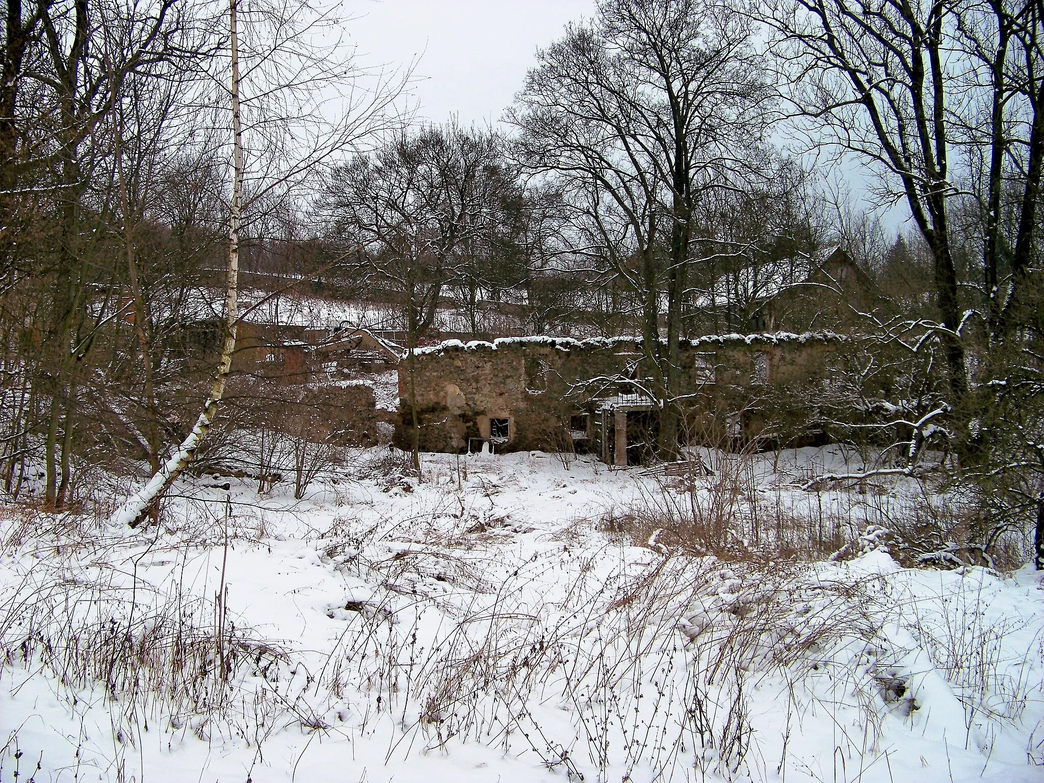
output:
[[[803,489],[853,459],[424,455],[419,481],[381,448],[303,501],[180,483],[139,531],[2,509],[0,781],[1044,780],[1038,574],[904,569],[875,536],[759,554],[915,494]],[[728,556],[650,530],[722,503]]]

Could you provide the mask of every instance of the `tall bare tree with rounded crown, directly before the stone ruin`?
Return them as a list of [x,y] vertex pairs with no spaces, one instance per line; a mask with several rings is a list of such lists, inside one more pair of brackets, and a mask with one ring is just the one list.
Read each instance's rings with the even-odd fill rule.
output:
[[728,5],[602,0],[590,25],[539,53],[511,115],[527,166],[566,184],[583,246],[638,299],[668,457],[693,213],[751,173],[761,137],[752,33]]

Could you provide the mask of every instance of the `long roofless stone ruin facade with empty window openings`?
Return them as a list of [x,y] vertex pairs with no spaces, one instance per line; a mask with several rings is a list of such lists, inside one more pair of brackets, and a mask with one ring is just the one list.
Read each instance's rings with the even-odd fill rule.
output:
[[[723,448],[825,443],[851,406],[852,338],[730,334],[684,340],[680,441]],[[396,444],[422,451],[574,451],[609,465],[655,457],[659,406],[640,339],[450,340],[399,365]],[[416,407],[411,404],[416,401]],[[414,424],[416,417],[416,424]]]

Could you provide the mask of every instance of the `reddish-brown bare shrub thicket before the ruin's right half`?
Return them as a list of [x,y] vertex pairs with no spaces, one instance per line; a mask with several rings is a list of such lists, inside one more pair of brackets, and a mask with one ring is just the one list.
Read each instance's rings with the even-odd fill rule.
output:
[[1007,570],[1029,554],[1024,530],[996,525],[942,476],[821,480],[823,466],[781,468],[780,452],[758,453],[755,442],[683,456],[647,471],[599,528],[661,554],[730,561],[845,559],[867,548],[868,530],[908,567]]

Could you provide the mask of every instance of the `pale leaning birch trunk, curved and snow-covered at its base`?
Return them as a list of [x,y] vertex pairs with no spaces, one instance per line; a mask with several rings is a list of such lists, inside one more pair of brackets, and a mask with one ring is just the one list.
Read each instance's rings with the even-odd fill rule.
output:
[[229,215],[229,271],[226,280],[224,298],[224,343],[221,359],[214,376],[207,404],[196,420],[189,436],[182,442],[166,464],[116,512],[110,522],[116,525],[137,526],[148,514],[148,509],[163,496],[183,470],[195,457],[210,431],[217,408],[224,395],[224,384],[232,371],[232,354],[236,350],[236,322],[239,311],[236,304],[237,281],[239,277],[239,222],[243,200],[243,145],[239,113],[239,38],[236,30],[236,2],[229,2],[229,32],[232,41],[232,135],[233,135],[233,186],[232,208]]

